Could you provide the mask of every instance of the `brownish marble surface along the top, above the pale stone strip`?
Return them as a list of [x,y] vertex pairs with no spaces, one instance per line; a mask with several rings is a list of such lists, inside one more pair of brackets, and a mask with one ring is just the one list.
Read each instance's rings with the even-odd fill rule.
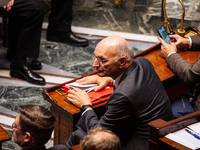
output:
[[[50,0],[43,0],[48,22]],[[200,0],[184,0],[184,27],[190,25]],[[94,29],[157,35],[161,21],[161,0],[126,0],[116,7],[113,0],[74,0],[73,25]],[[180,28],[182,6],[178,0],[166,1],[168,18],[176,31]]]

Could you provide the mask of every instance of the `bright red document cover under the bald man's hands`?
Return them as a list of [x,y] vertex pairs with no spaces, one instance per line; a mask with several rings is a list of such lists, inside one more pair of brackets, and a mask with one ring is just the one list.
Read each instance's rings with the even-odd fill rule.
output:
[[[62,86],[61,89],[65,91],[66,93],[68,93],[68,90],[72,88],[68,86]],[[98,92],[95,92],[94,90],[92,90],[88,93],[88,95],[91,99],[92,105],[94,105],[102,101],[106,101],[112,93],[113,93],[113,86],[107,86],[105,89]]]

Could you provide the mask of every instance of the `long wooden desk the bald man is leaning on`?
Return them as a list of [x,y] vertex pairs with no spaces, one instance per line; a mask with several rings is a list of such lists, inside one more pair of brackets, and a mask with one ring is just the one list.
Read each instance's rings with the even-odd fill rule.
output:
[[[200,51],[178,51],[190,64],[194,64]],[[159,54],[160,53],[160,44],[157,44],[137,55],[135,57],[143,56],[151,61],[153,64],[156,73],[160,77],[170,100],[185,94],[189,91],[188,87],[180,82],[177,76],[168,68],[165,59]],[[96,73],[96,72],[94,72]],[[91,74],[94,74],[91,73]],[[91,75],[89,74],[89,75]],[[70,82],[73,82],[77,79],[74,79]],[[68,83],[68,82],[66,82]],[[54,132],[54,144],[65,144],[68,140],[72,131],[74,131],[75,124],[77,123],[80,113],[79,108],[76,108],[74,105],[71,105],[64,101],[67,99],[67,95],[60,96],[55,90],[59,89],[61,86],[66,83],[47,88],[42,91],[43,97],[45,100],[49,101],[51,105],[51,111],[56,116],[55,132]],[[105,112],[106,101],[93,106],[94,111],[98,116],[102,116]]]

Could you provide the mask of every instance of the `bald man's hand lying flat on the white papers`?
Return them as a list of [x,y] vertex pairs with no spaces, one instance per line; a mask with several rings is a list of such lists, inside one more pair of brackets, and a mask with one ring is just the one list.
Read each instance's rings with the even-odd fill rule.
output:
[[111,85],[112,81],[113,79],[111,77],[100,77],[98,75],[92,75],[92,76],[87,76],[82,79],[79,79],[76,82],[79,83],[80,85],[96,83],[99,86],[97,86],[94,90],[100,91],[103,88],[105,88],[107,85]]

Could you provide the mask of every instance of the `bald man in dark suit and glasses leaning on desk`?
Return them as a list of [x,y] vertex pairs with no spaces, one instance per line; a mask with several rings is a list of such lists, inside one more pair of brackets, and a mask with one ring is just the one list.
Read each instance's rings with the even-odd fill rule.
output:
[[86,92],[77,88],[69,90],[68,100],[81,108],[82,115],[67,147],[78,144],[89,129],[100,126],[119,136],[122,149],[147,150],[148,122],[158,118],[172,119],[170,101],[153,65],[144,57],[134,59],[131,46],[119,36],[100,41],[93,56],[93,67],[97,68],[98,75],[77,82],[97,83],[96,90],[99,90],[112,84],[114,79],[116,89],[100,119]]

